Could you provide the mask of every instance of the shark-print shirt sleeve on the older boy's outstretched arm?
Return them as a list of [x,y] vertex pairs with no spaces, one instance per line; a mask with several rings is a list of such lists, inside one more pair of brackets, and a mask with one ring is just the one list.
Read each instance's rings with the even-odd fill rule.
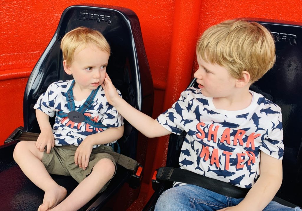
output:
[[184,130],[185,117],[188,115],[186,107],[188,107],[188,93],[183,91],[180,98],[164,113],[157,117],[157,121],[161,126],[170,132],[180,135]]

